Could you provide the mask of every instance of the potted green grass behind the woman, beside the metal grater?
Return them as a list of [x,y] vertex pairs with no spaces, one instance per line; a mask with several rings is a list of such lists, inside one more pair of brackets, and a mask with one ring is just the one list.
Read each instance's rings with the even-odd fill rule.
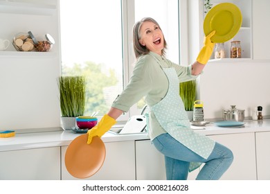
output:
[[190,121],[193,120],[193,106],[196,98],[196,80],[190,80],[188,82],[181,82],[180,96],[183,100],[183,105],[188,114]]

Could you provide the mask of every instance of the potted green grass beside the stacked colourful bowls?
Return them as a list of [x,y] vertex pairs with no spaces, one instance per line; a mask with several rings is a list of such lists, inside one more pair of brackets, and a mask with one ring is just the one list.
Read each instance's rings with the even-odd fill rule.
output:
[[84,76],[60,76],[61,121],[64,130],[75,127],[75,118],[84,114],[86,83]]

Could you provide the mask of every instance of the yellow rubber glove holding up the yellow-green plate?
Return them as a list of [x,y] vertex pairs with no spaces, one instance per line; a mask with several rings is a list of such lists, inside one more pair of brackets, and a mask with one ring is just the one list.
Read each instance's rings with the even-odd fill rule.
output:
[[209,35],[204,37],[204,46],[201,48],[201,51],[199,51],[197,62],[201,64],[206,64],[210,59],[215,46],[215,43],[211,42],[210,39],[211,37],[213,37],[213,35],[215,35],[215,30],[213,30]]

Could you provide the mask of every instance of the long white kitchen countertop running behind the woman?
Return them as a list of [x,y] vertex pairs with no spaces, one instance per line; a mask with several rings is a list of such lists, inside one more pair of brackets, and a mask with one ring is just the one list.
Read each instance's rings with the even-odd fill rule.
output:
[[[214,123],[207,124],[204,129],[196,127],[196,132],[205,135],[215,134],[235,134],[246,132],[266,132],[270,131],[270,119],[262,121],[245,120],[242,127],[217,127]],[[0,138],[0,151],[24,150],[33,148],[48,148],[69,145],[80,133],[72,130],[63,130],[55,132],[33,132],[16,134],[9,138]],[[102,141],[135,141],[149,139],[146,133],[139,134],[113,134],[107,132],[102,136]]]

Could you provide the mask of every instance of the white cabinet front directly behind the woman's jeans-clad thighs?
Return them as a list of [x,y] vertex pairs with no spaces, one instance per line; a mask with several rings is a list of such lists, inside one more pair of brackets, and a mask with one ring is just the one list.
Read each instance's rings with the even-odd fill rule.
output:
[[[199,170],[189,173],[188,179],[195,179]],[[165,180],[164,156],[154,148],[150,140],[136,141],[136,179]]]

